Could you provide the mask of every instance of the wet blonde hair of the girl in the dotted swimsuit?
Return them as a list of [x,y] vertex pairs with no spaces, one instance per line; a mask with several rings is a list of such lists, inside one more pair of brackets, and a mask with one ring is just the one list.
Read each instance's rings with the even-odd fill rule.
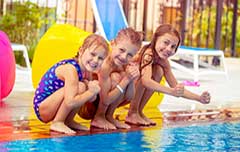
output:
[[100,46],[102,46],[106,50],[106,54],[108,54],[108,42],[100,35],[91,34],[87,38],[85,38],[75,58],[79,57],[79,54],[83,54],[87,48],[94,47],[94,49],[97,49]]

